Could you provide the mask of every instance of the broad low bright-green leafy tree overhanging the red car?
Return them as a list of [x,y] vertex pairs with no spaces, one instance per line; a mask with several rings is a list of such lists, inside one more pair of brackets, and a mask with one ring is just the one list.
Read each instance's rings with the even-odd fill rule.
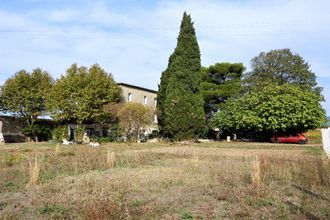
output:
[[284,84],[268,84],[237,100],[229,100],[213,125],[224,133],[269,137],[304,132],[325,120],[321,97],[312,90]]

